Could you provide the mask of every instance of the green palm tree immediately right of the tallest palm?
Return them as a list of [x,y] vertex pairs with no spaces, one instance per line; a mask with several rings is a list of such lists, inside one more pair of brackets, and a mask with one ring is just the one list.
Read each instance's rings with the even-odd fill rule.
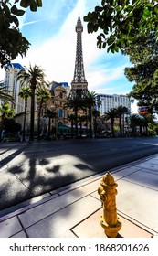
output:
[[51,94],[49,91],[47,91],[47,89],[45,88],[45,85],[41,86],[38,85],[37,86],[37,105],[38,105],[38,118],[37,118],[37,136],[38,139],[40,138],[40,117],[41,117],[41,110],[42,107],[44,105],[44,103],[46,103],[47,101],[49,101],[51,99]]

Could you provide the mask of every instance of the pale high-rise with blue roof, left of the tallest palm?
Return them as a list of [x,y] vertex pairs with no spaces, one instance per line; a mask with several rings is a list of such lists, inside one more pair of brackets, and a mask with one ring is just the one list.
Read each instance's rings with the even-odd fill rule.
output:
[[20,82],[17,81],[17,74],[21,69],[24,68],[19,63],[11,63],[6,66],[5,70],[5,88],[13,93],[15,104],[12,104],[11,107],[15,110],[15,114],[24,112],[24,100],[18,96]]

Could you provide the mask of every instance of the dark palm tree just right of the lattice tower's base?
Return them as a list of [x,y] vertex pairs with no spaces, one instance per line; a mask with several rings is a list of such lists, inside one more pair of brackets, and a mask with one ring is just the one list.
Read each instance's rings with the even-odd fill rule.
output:
[[90,121],[90,138],[92,137],[92,110],[94,109],[97,101],[97,94],[94,91],[88,91],[84,98],[85,106],[88,108],[89,121]]

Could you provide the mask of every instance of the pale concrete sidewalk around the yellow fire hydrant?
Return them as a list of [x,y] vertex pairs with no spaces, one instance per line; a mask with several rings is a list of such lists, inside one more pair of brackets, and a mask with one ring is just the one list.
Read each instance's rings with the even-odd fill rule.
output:
[[[158,235],[158,155],[110,170],[118,184],[116,203],[120,236]],[[1,238],[103,238],[102,208],[97,189],[106,174],[92,176],[0,218]]]

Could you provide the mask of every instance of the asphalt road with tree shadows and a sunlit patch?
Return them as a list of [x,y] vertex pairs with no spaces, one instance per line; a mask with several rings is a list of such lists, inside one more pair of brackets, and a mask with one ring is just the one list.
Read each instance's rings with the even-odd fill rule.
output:
[[158,137],[1,143],[0,216],[27,199],[157,153]]

